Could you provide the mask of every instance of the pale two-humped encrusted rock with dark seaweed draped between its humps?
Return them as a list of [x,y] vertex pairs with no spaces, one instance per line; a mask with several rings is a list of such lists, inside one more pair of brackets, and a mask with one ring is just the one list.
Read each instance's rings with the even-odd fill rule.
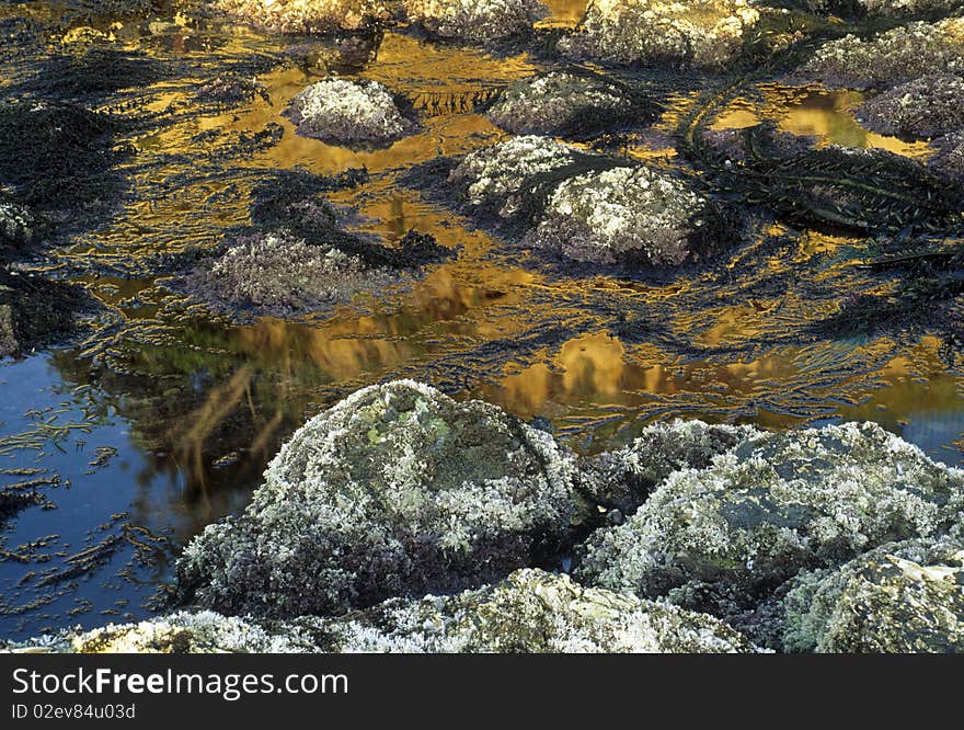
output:
[[684,180],[547,137],[478,149],[448,182],[470,215],[581,263],[679,265],[736,238],[735,221]]

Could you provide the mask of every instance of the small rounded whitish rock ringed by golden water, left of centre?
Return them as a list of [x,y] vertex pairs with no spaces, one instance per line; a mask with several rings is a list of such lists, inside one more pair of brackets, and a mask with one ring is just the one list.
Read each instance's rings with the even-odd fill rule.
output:
[[386,145],[416,127],[377,81],[325,79],[312,83],[295,96],[288,115],[298,134],[334,144]]

